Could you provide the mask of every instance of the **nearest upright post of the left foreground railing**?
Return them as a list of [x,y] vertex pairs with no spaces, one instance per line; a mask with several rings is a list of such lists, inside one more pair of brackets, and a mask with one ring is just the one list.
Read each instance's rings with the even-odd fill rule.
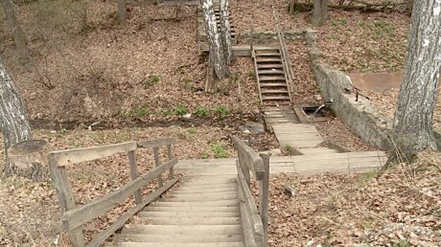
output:
[[[51,171],[52,183],[54,183],[55,191],[57,191],[57,197],[61,205],[61,213],[69,211],[75,207],[75,202],[73,201],[73,193],[69,185],[69,180],[67,179],[66,167],[59,167],[57,161],[53,159],[51,155],[47,156],[47,160]],[[69,241],[73,247],[86,246],[82,227],[77,227],[69,231]]]

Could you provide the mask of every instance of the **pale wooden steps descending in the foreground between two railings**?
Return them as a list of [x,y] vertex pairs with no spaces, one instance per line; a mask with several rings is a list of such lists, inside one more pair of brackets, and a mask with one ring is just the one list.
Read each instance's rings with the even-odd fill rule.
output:
[[145,207],[109,246],[245,246],[237,179],[216,165],[204,167],[193,169],[169,198]]

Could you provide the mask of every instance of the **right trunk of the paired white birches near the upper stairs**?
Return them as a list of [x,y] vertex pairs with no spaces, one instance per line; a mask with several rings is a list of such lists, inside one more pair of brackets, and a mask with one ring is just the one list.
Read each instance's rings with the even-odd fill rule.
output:
[[[222,40],[223,55],[227,65],[233,64],[233,49],[231,43],[230,13],[228,0],[220,0],[220,37]],[[227,71],[228,72],[228,71]]]

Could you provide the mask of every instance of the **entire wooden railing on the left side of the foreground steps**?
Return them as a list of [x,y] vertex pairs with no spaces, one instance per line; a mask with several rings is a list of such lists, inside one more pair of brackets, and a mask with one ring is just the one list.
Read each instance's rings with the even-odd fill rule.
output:
[[[69,241],[73,247],[86,246],[83,236],[83,224],[91,219],[104,214],[108,210],[112,210],[119,203],[122,203],[130,195],[134,195],[136,206],[131,207],[116,222],[114,222],[105,231],[95,236],[87,246],[100,246],[114,231],[122,228],[127,220],[136,212],[141,210],[149,203],[157,200],[161,194],[167,191],[173,184],[177,182],[174,178],[173,167],[177,164],[177,159],[172,157],[172,145],[176,143],[175,138],[165,138],[158,140],[143,140],[139,142],[118,143],[113,145],[103,145],[98,147],[86,147],[72,150],[61,150],[49,152],[47,160],[51,169],[52,181],[57,191],[59,203],[63,215],[61,221],[64,230],[69,233]],[[167,161],[160,162],[159,148],[167,147]],[[155,156],[155,168],[146,174],[139,175],[138,166],[136,165],[136,150],[139,147],[153,147]],[[86,205],[75,205],[73,194],[69,180],[66,174],[66,167],[79,162],[88,162],[94,159],[101,159],[119,153],[126,153],[129,158],[131,181],[126,185],[105,195],[102,198],[91,201]],[[163,182],[162,174],[164,171],[170,171],[170,180]],[[141,188],[147,183],[158,179],[160,188],[149,194],[146,198],[142,198]]]

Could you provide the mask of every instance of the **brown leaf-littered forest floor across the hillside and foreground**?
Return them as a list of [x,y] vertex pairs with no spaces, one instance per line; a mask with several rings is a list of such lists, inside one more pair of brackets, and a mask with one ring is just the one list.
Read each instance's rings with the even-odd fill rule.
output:
[[[194,7],[176,11],[133,1],[126,25],[118,27],[116,4],[87,1],[88,24],[81,30],[78,4],[83,2],[49,1],[54,8],[48,9],[63,10],[50,13],[39,12],[37,1],[19,6],[32,54],[27,68],[18,66],[11,32],[0,21],[1,57],[20,88],[35,136],[49,140],[51,150],[175,136],[178,158],[234,157],[231,134],[247,140],[254,150],[277,147],[274,135],[240,130],[248,122],[261,122],[249,58],[237,59],[233,76],[216,92],[202,92],[206,61],[197,50]],[[273,3],[283,30],[312,28],[307,13],[287,12],[288,0],[241,0],[230,2],[237,31],[274,31]],[[404,67],[408,23],[402,13],[331,11],[327,24],[315,29],[319,48],[332,66],[347,73],[397,71]],[[319,104],[305,44],[288,45],[298,82],[295,102]],[[186,114],[192,116],[184,118]],[[103,129],[88,131],[96,121]],[[339,119],[329,116],[316,126],[327,140],[348,150],[372,149]],[[151,169],[151,153],[138,157],[146,164],[141,171]],[[305,246],[308,241],[386,246],[401,238],[408,239],[401,246],[436,246],[441,190],[434,181],[441,176],[439,159],[430,157],[435,155],[384,174],[272,177],[271,246]],[[76,201],[86,203],[129,181],[127,158],[79,164],[69,169],[69,177]],[[295,196],[287,198],[283,186],[293,186]],[[149,185],[146,192],[154,188]],[[132,204],[128,200],[88,224],[86,236]],[[3,179],[0,205],[0,246],[49,246],[62,232],[49,182]],[[427,243],[415,242],[415,234]],[[58,246],[69,246],[66,236]]]

